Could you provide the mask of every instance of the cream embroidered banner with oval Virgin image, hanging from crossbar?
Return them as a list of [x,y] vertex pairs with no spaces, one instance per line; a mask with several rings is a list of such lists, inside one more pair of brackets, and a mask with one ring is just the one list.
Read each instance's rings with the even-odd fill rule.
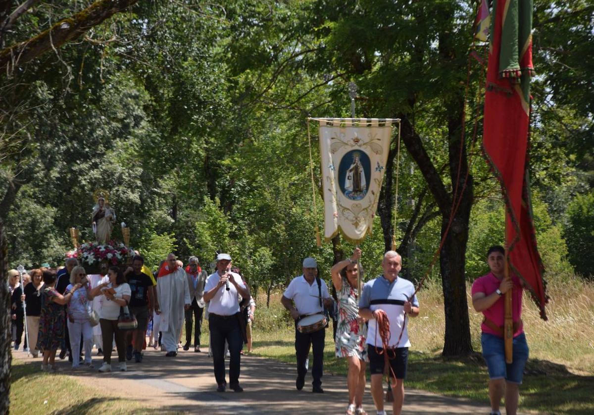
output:
[[390,150],[390,118],[315,118],[324,188],[324,238],[360,243],[371,232]]

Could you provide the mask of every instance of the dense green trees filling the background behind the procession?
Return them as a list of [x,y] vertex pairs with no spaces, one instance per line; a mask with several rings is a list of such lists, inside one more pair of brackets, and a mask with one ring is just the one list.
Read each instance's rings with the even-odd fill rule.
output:
[[[594,22],[585,0],[563,10],[534,4],[530,174],[545,267],[561,278],[592,269],[576,227],[592,210]],[[92,194],[105,188],[132,229],[131,246],[153,267],[169,250],[203,264],[225,250],[253,287],[270,291],[313,255],[327,278],[333,254],[315,244],[322,224],[306,118],[348,117],[354,81],[358,116],[402,120],[399,199],[394,134],[374,233],[362,244],[366,276],[380,272],[396,234],[405,275],[419,281],[451,219],[431,278],[441,278],[448,300],[444,353],[472,351],[466,282],[485,272],[486,247],[504,238],[498,184],[478,150],[484,67],[469,65],[476,2],[22,6],[20,14],[12,2],[0,7],[0,218],[11,267],[59,265],[69,227],[91,239]],[[93,24],[83,33],[78,18]],[[60,30],[69,34],[58,39]],[[49,49],[29,41],[50,36]],[[318,166],[314,176],[319,207]]]

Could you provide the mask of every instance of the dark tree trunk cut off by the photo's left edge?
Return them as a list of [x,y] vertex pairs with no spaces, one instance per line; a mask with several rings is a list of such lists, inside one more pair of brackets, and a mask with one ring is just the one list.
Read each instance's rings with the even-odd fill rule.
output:
[[8,257],[4,221],[0,218],[0,414],[8,414],[10,405],[10,291],[8,290]]

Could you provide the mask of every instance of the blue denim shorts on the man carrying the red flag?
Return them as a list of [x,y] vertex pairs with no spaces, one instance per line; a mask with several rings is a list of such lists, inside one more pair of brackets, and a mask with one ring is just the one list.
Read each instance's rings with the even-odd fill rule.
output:
[[483,357],[489,369],[489,379],[505,379],[511,383],[522,383],[524,367],[528,360],[528,344],[524,333],[514,338],[513,362],[505,363],[505,345],[502,337],[483,333],[481,336]]

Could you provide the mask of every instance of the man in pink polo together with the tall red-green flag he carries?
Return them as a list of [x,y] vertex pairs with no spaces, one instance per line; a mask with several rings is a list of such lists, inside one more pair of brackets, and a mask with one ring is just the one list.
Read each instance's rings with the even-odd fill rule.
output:
[[[486,20],[486,3],[482,3],[479,22]],[[485,315],[482,345],[491,378],[491,414],[500,414],[500,400],[505,394],[505,409],[513,415],[519,400],[517,385],[522,382],[528,353],[519,319],[520,285],[532,293],[544,320],[547,301],[544,269],[536,249],[527,168],[530,77],[535,74],[532,0],[494,0],[491,15],[482,147],[501,184],[506,208],[505,249],[489,249],[491,272],[475,281],[472,300],[475,310]]]

